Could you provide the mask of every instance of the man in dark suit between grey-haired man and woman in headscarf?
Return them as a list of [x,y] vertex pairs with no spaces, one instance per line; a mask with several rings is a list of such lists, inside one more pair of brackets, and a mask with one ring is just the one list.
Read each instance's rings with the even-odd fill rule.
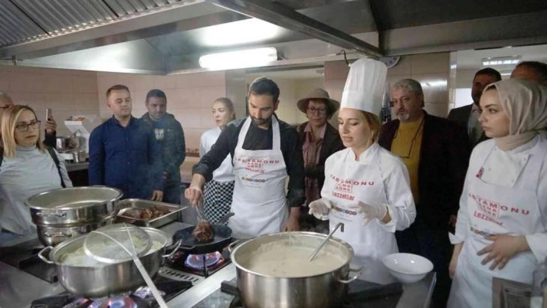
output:
[[473,88],[471,89],[471,97],[473,103],[467,106],[454,108],[448,114],[448,119],[456,121],[459,125],[467,130],[469,145],[473,149],[479,142],[488,139],[482,131],[482,126],[479,123],[479,101],[484,88],[494,82],[502,80],[502,75],[496,69],[487,67],[475,73],[473,78]]

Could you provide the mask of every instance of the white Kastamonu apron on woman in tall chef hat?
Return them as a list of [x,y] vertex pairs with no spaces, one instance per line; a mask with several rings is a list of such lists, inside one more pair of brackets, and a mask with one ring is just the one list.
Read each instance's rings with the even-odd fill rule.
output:
[[333,203],[329,213],[330,230],[337,223],[344,223],[344,232],[337,230],[334,236],[349,243],[356,257],[380,260],[398,252],[395,235],[384,230],[377,219],[364,226],[364,214],[348,207],[359,201],[388,203],[381,176],[380,147],[373,155],[371,161],[375,164],[362,164],[355,161],[352,150],[348,150],[344,159],[329,165],[329,170],[325,170],[322,196]]

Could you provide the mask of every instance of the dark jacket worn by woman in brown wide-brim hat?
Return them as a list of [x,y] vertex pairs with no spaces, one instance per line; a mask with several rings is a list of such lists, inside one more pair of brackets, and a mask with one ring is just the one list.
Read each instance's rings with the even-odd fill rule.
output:
[[[296,130],[300,135],[300,140],[302,145],[304,144],[304,130],[308,123],[302,123]],[[308,170],[306,168],[306,177],[316,178],[319,184],[319,190],[323,188],[323,183],[325,182],[325,161],[330,155],[345,149],[344,143],[340,138],[338,131],[327,122],[327,129],[325,129],[325,136],[323,138],[323,146],[321,147],[321,153],[319,153],[319,164],[317,167]]]

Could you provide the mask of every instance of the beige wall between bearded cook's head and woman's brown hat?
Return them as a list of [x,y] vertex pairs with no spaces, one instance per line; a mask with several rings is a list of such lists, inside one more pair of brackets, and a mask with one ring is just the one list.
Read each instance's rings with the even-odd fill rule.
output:
[[[263,75],[269,77],[267,73]],[[250,85],[255,77],[255,75],[247,75],[247,84]],[[271,78],[277,83],[280,89],[280,103],[276,111],[277,116],[281,120],[294,125],[307,121],[306,115],[296,107],[296,102],[309,94],[313,89],[323,88],[323,79]]]

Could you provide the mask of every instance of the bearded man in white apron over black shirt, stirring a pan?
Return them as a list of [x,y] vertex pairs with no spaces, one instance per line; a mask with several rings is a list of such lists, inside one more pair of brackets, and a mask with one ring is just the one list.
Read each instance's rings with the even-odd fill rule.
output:
[[296,129],[274,114],[279,93],[273,80],[254,80],[248,93],[249,117],[226,126],[194,166],[190,187],[184,191],[192,205],[201,204],[203,184],[231,154],[235,176],[231,211],[235,215],[228,226],[239,239],[299,229],[300,205],[305,200],[302,145]]

